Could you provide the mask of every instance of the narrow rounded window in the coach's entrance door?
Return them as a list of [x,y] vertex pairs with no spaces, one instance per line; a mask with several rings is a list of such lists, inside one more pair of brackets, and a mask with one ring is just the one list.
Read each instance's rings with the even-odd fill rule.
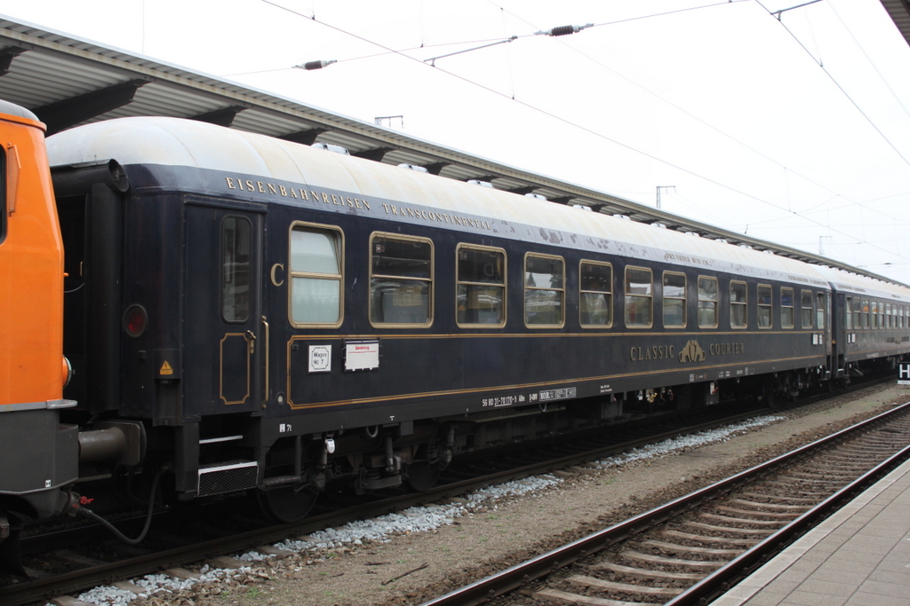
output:
[[221,317],[225,322],[249,319],[252,225],[245,217],[221,222]]

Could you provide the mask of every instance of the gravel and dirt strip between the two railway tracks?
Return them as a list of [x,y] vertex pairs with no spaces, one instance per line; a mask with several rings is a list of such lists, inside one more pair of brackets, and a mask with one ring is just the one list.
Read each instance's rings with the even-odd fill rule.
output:
[[905,388],[867,388],[284,541],[276,547],[294,555],[241,554],[236,557],[248,567],[204,568],[202,581],[177,584],[149,576],[134,580],[146,591],[140,597],[115,588],[79,597],[132,606],[418,604],[907,400]]

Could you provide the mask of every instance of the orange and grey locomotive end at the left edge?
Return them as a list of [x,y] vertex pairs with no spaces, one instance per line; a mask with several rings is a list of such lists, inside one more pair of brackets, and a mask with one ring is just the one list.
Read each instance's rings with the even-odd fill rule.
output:
[[63,511],[78,475],[78,428],[60,422],[64,253],[45,124],[0,101],[0,542]]

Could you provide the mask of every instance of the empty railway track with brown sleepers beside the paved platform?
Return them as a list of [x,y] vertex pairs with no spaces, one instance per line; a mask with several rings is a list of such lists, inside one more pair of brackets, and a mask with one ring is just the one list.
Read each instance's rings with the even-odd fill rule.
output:
[[910,402],[422,606],[707,603],[910,458],[908,444]]

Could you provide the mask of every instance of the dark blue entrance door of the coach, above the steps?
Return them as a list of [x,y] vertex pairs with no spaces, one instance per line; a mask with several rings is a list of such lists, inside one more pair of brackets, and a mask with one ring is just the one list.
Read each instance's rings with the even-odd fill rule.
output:
[[188,202],[184,317],[188,415],[255,412],[266,400],[264,214]]

